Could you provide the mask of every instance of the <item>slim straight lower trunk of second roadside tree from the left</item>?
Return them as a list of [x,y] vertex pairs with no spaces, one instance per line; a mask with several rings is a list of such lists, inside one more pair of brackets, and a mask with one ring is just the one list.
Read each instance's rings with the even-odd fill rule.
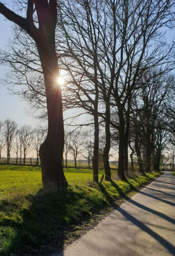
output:
[[98,103],[94,103],[94,152],[93,152],[93,181],[98,182],[98,153],[99,153],[99,124]]

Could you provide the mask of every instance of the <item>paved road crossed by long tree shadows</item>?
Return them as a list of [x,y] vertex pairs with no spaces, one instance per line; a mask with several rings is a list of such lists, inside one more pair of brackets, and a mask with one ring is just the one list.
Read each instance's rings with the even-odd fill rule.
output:
[[175,255],[175,178],[165,172],[57,255]]

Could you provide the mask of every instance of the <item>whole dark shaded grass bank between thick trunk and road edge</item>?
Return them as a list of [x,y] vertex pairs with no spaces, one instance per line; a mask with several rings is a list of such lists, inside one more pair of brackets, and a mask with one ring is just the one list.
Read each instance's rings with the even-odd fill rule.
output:
[[21,207],[23,202],[18,206],[23,221],[15,226],[9,220],[5,225],[15,229],[8,255],[14,251],[17,251],[17,255],[51,255],[63,250],[68,233],[74,230],[72,225],[80,225],[84,219],[91,217],[83,209],[76,216],[81,197],[81,191],[76,193],[71,187],[49,194],[40,189],[35,196],[27,195],[27,202],[31,202],[31,206]]

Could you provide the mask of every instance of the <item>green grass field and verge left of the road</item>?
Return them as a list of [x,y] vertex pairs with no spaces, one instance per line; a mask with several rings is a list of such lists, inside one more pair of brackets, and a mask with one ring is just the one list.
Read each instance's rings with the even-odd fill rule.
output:
[[[84,222],[111,207],[112,200],[148,183],[160,173],[127,181],[92,182],[90,169],[65,169],[66,190],[43,194],[39,167],[0,165],[0,254],[50,253],[78,236]],[[103,170],[99,171],[100,177]],[[115,177],[115,172],[112,172]],[[114,178],[113,178],[114,179]],[[56,249],[55,249],[56,248]]]

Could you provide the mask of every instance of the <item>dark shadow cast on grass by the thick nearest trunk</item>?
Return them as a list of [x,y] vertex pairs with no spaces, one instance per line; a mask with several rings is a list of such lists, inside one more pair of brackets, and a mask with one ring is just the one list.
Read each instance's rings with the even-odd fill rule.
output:
[[10,252],[15,250],[17,255],[46,255],[53,253],[51,248],[63,249],[64,225],[60,211],[65,213],[69,194],[67,189],[61,194],[62,199],[58,193],[45,194],[40,189],[35,196],[26,196],[31,197],[28,199],[32,204],[30,208],[20,209],[23,222],[15,227],[16,234],[9,247]]

